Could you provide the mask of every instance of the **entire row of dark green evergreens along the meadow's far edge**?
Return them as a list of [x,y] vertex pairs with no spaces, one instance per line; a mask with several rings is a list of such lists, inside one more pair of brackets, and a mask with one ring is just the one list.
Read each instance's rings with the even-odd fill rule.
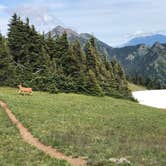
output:
[[30,86],[50,93],[74,92],[130,98],[120,64],[101,55],[92,37],[82,49],[67,34],[40,34],[14,14],[7,37],[0,34],[0,86]]

